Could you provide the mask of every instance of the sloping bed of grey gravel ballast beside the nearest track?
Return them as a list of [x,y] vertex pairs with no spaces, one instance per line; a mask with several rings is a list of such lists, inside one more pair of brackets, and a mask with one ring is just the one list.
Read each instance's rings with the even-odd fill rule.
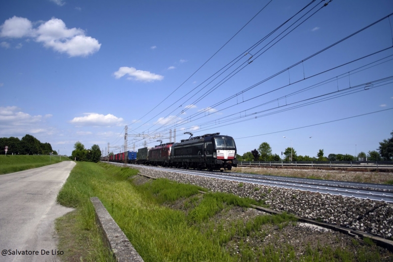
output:
[[143,166],[134,168],[139,169],[143,175],[168,178],[179,183],[198,185],[213,192],[232,193],[256,201],[265,200],[269,208],[277,211],[287,211],[300,217],[392,239],[393,204],[391,203],[158,171]]

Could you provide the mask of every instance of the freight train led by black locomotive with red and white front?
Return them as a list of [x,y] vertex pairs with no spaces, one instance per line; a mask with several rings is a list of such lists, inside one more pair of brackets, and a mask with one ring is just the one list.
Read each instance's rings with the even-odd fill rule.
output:
[[237,167],[236,144],[232,137],[220,133],[197,137],[189,134],[190,138],[180,143],[140,148],[138,156],[136,151],[128,151],[101,157],[101,161],[221,171]]

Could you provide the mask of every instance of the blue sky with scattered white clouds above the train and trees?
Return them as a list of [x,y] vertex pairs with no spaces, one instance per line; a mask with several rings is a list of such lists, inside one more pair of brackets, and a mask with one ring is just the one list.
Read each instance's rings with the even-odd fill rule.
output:
[[309,57],[393,2],[315,1],[274,32],[309,2],[2,1],[0,137],[118,152],[127,125],[129,149],[176,129],[232,136],[239,154],[375,150],[393,131],[393,16]]

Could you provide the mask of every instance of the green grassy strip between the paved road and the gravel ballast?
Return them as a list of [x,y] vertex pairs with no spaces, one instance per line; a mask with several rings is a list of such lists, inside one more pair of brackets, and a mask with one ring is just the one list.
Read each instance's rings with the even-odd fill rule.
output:
[[[284,248],[264,245],[263,238],[267,235],[264,226],[275,225],[281,230],[296,224],[296,219],[282,214],[228,220],[227,214],[234,206],[258,203],[224,193],[202,195],[198,192],[202,188],[166,179],[138,184],[137,179],[129,179],[137,173],[137,170],[103,163],[77,163],[57,197],[60,204],[77,208],[69,218],[56,222],[60,235],[58,249],[64,250],[62,257],[66,261],[111,259],[95,224],[94,208],[89,201],[93,196],[105,205],[145,262],[358,259],[345,249],[329,246],[308,248],[299,257],[290,245]],[[179,203],[182,208],[169,207]],[[68,222],[65,226],[64,222],[69,219],[75,223]],[[259,239],[259,242],[252,246],[249,239]]]

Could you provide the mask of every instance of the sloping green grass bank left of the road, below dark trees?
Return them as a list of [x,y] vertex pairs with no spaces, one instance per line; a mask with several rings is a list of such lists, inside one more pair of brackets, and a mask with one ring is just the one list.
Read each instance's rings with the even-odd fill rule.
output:
[[24,171],[70,161],[68,157],[58,155],[0,155],[0,175]]

